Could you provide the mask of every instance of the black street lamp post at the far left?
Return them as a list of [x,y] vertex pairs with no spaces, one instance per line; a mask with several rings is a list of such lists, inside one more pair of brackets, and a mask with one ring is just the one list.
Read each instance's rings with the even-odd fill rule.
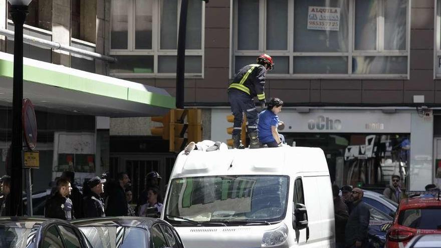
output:
[[12,100],[11,195],[9,215],[23,215],[23,24],[32,0],[8,0],[14,22],[14,85]]

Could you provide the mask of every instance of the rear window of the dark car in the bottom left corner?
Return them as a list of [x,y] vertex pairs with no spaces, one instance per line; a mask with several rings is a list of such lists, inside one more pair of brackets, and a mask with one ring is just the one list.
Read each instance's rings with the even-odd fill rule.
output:
[[[28,237],[32,237],[35,231],[31,228],[0,226],[0,247],[2,248],[25,248],[28,246]],[[33,238],[29,238],[32,242]]]

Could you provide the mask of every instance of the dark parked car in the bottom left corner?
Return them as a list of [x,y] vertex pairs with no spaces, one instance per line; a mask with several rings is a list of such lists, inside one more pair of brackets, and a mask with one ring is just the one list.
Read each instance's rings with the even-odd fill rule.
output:
[[92,248],[83,233],[61,219],[0,217],[2,248]]

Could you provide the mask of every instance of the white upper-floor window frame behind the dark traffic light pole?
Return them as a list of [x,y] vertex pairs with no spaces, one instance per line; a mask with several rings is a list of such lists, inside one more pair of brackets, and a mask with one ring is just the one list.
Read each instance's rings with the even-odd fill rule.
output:
[[[127,23],[127,49],[112,49],[111,39],[109,39],[109,55],[130,55],[130,56],[153,56],[153,73],[109,73],[112,77],[120,78],[176,78],[175,73],[159,73],[158,72],[158,57],[159,56],[177,56],[177,49],[160,49],[160,3],[162,0],[153,0],[152,2],[152,49],[135,49],[135,1],[129,0],[128,23]],[[138,0],[139,1],[139,0]],[[179,34],[179,17],[182,0],[177,0],[177,29]],[[200,56],[201,57],[201,73],[185,73],[185,78],[204,78],[204,48],[205,48],[205,2],[201,1],[201,43],[200,49],[185,49],[185,56]],[[112,35],[112,7],[110,14],[110,31],[109,38]],[[176,40],[177,44],[177,40]]]

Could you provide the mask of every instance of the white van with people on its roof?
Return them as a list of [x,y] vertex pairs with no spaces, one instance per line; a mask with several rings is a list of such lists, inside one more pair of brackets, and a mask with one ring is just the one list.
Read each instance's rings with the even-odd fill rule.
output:
[[320,148],[181,152],[161,218],[187,248],[334,247],[334,205]]

